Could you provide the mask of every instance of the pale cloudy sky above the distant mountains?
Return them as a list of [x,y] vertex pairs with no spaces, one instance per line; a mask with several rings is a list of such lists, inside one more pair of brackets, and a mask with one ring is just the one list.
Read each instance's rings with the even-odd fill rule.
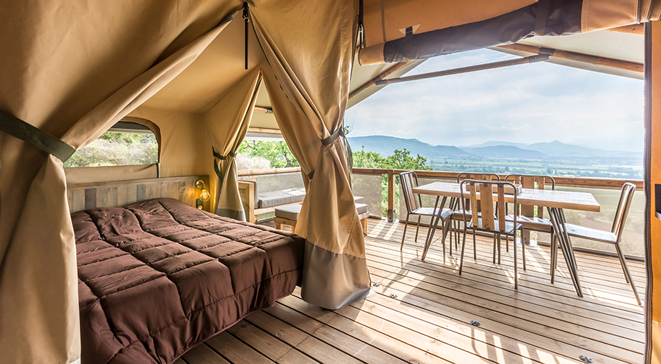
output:
[[[482,49],[439,56],[406,75],[515,58]],[[390,84],[347,110],[351,136],[416,138],[431,145],[554,140],[643,150],[643,81],[552,63]]]

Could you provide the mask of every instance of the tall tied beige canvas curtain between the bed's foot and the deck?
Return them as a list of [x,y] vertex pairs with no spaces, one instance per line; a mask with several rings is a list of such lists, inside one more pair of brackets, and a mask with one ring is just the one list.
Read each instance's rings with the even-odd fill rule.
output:
[[302,171],[314,172],[296,226],[306,238],[302,297],[340,308],[370,292],[345,150],[335,138],[349,94],[358,1],[263,1],[250,11],[272,67],[264,67],[264,83],[274,115]]

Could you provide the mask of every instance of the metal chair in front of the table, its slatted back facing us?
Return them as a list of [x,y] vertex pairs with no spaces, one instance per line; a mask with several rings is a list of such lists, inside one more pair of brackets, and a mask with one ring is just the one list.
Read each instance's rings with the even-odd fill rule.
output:
[[[459,264],[459,275],[463,270],[463,254],[466,249],[466,230],[469,228],[473,230],[473,251],[475,252],[475,233],[477,230],[486,233],[494,234],[494,264],[496,263],[496,252],[498,253],[498,264],[501,263],[501,235],[512,237],[516,239],[517,230],[521,230],[523,236],[523,226],[516,221],[514,215],[513,221],[506,221],[505,219],[505,188],[512,188],[516,190],[513,183],[504,181],[476,181],[472,179],[464,180],[459,185],[461,192],[461,207],[463,211],[470,211],[470,221],[467,215],[463,215],[463,241],[461,242],[461,262]],[[496,209],[494,211],[494,187],[496,190]],[[478,190],[479,189],[479,190]],[[466,206],[465,191],[468,191],[470,196],[470,210]],[[480,193],[478,197],[478,193]],[[516,194],[513,195],[514,204],[517,204]],[[480,202],[478,204],[478,202]],[[482,215],[478,214],[482,212]],[[518,290],[518,263],[516,256],[516,245],[514,249],[514,289]],[[525,271],[525,245],[522,245],[523,250],[523,270]],[[477,259],[477,257],[475,257]]]

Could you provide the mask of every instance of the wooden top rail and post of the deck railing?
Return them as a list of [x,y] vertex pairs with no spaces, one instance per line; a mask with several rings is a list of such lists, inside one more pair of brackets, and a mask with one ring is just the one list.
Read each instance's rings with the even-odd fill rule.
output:
[[[300,167],[293,168],[278,168],[278,169],[255,169],[250,171],[238,171],[239,176],[261,176],[264,174],[283,174],[300,172]],[[366,174],[373,176],[387,175],[388,178],[388,221],[394,221],[394,196],[395,196],[395,183],[394,176],[405,169],[385,169],[385,168],[354,168],[354,174]],[[431,178],[456,178],[457,171],[416,171],[418,177],[431,177]],[[475,172],[478,173],[478,172]],[[505,178],[506,174],[501,174],[501,178]],[[643,181],[639,179],[620,179],[620,178],[591,178],[591,177],[563,177],[553,176],[556,180],[557,186],[567,187],[584,187],[584,188],[607,188],[607,189],[620,189],[622,185],[627,182],[634,183],[636,188],[643,188]]]

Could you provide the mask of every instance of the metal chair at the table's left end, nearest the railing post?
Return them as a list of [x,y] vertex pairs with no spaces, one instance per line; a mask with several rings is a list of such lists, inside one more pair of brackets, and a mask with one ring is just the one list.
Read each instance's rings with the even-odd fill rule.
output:
[[[404,233],[402,234],[402,246],[399,247],[399,250],[404,249],[404,238],[406,237],[406,228],[409,226],[409,216],[418,215],[418,223],[416,223],[416,238],[415,241],[418,241],[418,231],[420,230],[420,219],[422,216],[430,216],[431,221],[429,224],[429,230],[427,230],[427,239],[425,240],[425,249],[423,251],[422,259],[425,260],[429,247],[427,246],[428,241],[430,241],[430,233],[432,232],[432,224],[434,223],[434,218],[437,216],[439,209],[434,207],[423,207],[422,199],[420,195],[413,193],[413,187],[418,187],[418,174],[414,171],[404,172],[399,174],[399,183],[402,184],[402,193],[404,194],[404,202],[406,203],[406,221],[404,221]],[[445,235],[447,235],[447,224],[446,221],[449,219],[452,214],[451,209],[442,209],[440,212],[440,221],[442,226],[443,233],[443,259],[445,259]],[[431,244],[431,243],[430,243]],[[430,245],[429,244],[429,245]]]

